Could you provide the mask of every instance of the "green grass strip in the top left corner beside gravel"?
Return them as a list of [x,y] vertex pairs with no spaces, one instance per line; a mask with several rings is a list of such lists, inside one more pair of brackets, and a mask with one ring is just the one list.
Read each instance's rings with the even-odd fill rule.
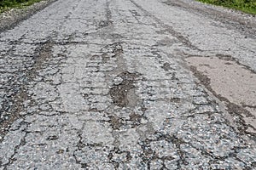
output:
[[10,8],[24,8],[40,1],[41,0],[0,0],[0,13]]

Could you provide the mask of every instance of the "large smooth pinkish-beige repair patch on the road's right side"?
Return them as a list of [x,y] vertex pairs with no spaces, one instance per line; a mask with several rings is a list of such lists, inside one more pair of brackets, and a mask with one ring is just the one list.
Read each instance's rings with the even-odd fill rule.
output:
[[256,133],[256,74],[229,56],[189,57],[191,70],[218,99],[224,101],[230,114],[239,116],[241,131]]

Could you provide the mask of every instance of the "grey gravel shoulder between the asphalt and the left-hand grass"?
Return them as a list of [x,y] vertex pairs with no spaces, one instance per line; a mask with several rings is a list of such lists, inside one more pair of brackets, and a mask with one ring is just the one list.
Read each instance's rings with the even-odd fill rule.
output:
[[28,19],[55,1],[57,0],[43,0],[25,8],[14,8],[10,11],[3,12],[0,14],[0,32],[14,28],[21,21]]

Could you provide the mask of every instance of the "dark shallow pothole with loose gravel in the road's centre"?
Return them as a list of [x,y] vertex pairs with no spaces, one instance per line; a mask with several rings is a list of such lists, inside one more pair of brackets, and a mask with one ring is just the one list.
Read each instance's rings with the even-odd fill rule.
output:
[[110,88],[109,94],[115,105],[125,107],[129,103],[133,103],[133,101],[129,102],[128,94],[132,89],[136,88],[134,83],[137,82],[137,78],[140,76],[137,72],[125,71],[114,78],[114,85],[113,88]]

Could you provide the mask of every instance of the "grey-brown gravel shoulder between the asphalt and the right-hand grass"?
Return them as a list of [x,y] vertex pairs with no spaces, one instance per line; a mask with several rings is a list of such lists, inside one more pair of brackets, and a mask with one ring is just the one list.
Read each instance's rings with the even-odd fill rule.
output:
[[[204,17],[207,16],[212,20],[220,21],[227,28],[240,31],[245,37],[256,37],[256,15],[245,14],[234,9],[195,1],[183,3],[183,0],[166,0],[164,3],[177,8],[184,8],[194,14],[200,14]],[[195,3],[195,5],[193,3]]]

